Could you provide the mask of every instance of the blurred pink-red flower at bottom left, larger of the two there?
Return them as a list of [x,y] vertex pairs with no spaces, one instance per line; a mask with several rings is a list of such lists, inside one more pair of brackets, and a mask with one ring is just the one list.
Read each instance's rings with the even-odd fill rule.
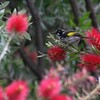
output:
[[8,100],[27,100],[29,88],[25,81],[14,81],[6,87]]

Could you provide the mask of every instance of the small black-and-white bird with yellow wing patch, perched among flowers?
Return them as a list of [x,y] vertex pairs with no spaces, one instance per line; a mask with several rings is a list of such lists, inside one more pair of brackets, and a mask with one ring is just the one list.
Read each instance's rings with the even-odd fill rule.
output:
[[65,44],[77,44],[78,46],[82,46],[84,48],[85,46],[85,41],[83,38],[87,38],[82,36],[79,32],[70,30],[70,31],[65,31],[63,29],[58,29],[55,34],[57,37],[60,39],[61,42]]

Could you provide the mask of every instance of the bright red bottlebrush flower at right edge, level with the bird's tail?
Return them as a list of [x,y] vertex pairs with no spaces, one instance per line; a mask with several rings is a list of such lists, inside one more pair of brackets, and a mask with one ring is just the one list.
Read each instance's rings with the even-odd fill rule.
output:
[[100,50],[100,32],[95,28],[92,28],[91,31],[86,32],[86,35],[87,37],[90,37],[88,42]]

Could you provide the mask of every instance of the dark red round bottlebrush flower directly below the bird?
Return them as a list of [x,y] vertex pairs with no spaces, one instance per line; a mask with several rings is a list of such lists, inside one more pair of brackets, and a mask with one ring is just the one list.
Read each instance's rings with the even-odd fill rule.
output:
[[63,50],[61,47],[59,46],[54,46],[54,47],[51,47],[49,50],[48,50],[48,56],[51,60],[53,61],[60,61],[60,60],[63,60],[65,59],[66,57],[66,52],[65,50]]

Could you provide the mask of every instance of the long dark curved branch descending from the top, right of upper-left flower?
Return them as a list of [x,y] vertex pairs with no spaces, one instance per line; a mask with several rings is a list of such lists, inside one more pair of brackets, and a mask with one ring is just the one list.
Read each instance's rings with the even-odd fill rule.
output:
[[[43,34],[41,29],[41,20],[39,13],[35,8],[35,4],[32,2],[32,0],[26,0],[26,4],[32,15],[32,21],[35,27],[37,51],[43,52]],[[39,71],[39,73],[44,73],[43,62],[43,58],[38,58],[37,70]]]

